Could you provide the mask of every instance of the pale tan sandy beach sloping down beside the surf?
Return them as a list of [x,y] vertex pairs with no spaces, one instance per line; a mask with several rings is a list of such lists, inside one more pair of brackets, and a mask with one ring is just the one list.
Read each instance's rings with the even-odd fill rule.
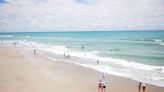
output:
[[[73,63],[51,60],[29,50],[0,48],[0,92],[97,92],[102,73]],[[106,92],[138,92],[139,82],[106,75]],[[163,87],[146,84],[146,92]]]

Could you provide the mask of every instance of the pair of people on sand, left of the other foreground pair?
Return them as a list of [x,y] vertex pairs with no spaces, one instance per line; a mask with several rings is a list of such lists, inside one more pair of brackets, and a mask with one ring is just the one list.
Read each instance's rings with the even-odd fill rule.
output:
[[103,76],[98,83],[98,92],[105,92],[105,89],[106,89],[106,80],[105,80],[105,73],[103,73]]

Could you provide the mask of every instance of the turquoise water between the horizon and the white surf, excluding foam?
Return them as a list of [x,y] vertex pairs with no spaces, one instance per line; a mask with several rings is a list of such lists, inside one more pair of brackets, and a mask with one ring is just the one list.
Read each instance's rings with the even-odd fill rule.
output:
[[26,39],[70,49],[84,45],[85,51],[96,50],[100,56],[164,65],[164,31],[1,33],[0,39]]

